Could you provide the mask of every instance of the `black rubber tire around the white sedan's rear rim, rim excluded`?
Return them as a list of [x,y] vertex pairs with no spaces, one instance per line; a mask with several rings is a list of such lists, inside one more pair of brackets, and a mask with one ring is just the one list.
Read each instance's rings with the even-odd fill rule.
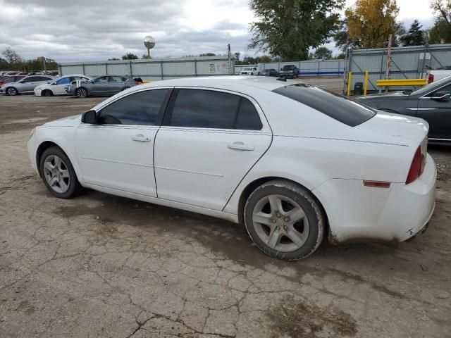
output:
[[[280,227],[271,225],[271,230],[269,230],[270,225],[263,225],[262,223],[254,222],[254,211],[256,210],[256,208],[257,210],[259,210],[259,206],[264,205],[264,199],[268,198],[268,196],[279,196],[280,198],[283,197],[289,199],[290,201],[294,201],[295,204],[297,204],[297,206],[299,207],[297,208],[297,210],[300,209],[301,211],[303,211],[304,216],[302,216],[302,220],[292,225],[288,225],[288,227],[291,227],[290,229],[295,228],[295,230],[298,231],[296,232],[297,234],[300,234],[301,236],[302,234],[304,234],[304,236],[307,238],[304,240],[301,246],[297,247],[297,244],[295,244],[295,242],[293,241],[292,243],[289,243],[290,238],[288,236],[285,237],[283,234],[285,230],[283,230],[282,227],[288,229],[287,225],[283,223],[285,223],[285,220],[289,219],[289,217],[285,218],[285,216],[282,215],[282,218],[280,218],[280,214],[278,213],[276,213],[278,218],[276,218],[276,216],[273,217],[273,211],[271,210],[271,222],[278,222],[276,223],[276,225],[280,223]],[[285,201],[283,203],[287,203],[287,205],[289,204],[289,202]],[[268,204],[264,206],[264,208],[268,208]],[[289,206],[287,208],[289,208]],[[294,211],[295,209],[293,208],[292,210]],[[260,187],[255,189],[247,199],[243,216],[247,233],[249,234],[249,237],[251,237],[252,242],[254,242],[261,251],[274,258],[279,258],[287,261],[295,261],[298,259],[306,258],[307,256],[311,255],[311,253],[314,253],[314,251],[318,249],[321,242],[323,242],[326,228],[326,215],[323,211],[323,208],[321,207],[319,202],[316,201],[309,190],[300,187],[294,182],[287,180],[273,180],[262,184]],[[293,249],[292,251],[287,251],[284,249],[283,251],[281,251],[269,246],[266,242],[264,242],[264,239],[261,239],[261,230],[265,227],[267,227],[267,242],[270,242],[271,233],[273,232],[272,227],[276,227],[279,229],[278,237],[280,238],[280,242],[278,242],[279,244],[276,244],[276,246],[285,246],[288,248],[293,246],[297,249]],[[288,229],[285,234],[292,234],[292,230],[290,229]],[[300,229],[301,231],[299,232],[298,229]],[[285,244],[283,244],[284,241]],[[286,244],[286,242],[288,242],[288,244]]]

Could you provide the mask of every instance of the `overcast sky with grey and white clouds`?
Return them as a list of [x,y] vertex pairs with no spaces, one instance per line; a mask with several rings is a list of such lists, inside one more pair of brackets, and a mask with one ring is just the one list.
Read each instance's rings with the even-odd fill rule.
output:
[[[432,25],[428,0],[397,3],[398,20]],[[255,56],[247,49],[252,20],[248,0],[0,0],[0,50],[11,46],[23,58],[99,61],[126,52],[142,56],[142,39],[151,34],[154,58],[225,54],[228,43],[242,56]]]

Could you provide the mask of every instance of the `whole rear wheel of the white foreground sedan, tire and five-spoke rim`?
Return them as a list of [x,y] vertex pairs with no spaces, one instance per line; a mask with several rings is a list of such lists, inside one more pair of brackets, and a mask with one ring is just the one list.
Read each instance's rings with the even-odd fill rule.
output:
[[323,241],[326,216],[311,193],[285,180],[262,184],[247,199],[245,226],[252,241],[269,256],[294,261]]

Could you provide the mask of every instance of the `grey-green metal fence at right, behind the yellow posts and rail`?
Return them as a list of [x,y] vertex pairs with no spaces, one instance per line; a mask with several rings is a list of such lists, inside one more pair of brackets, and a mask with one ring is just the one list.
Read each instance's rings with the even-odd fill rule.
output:
[[[387,49],[355,49],[349,52],[349,70],[352,72],[351,88],[356,82],[364,82],[364,73],[369,71],[369,91],[378,91],[376,80],[385,78]],[[439,68],[451,65],[451,44],[430,46],[408,46],[392,49],[390,79],[416,79],[426,76],[427,67]],[[343,92],[347,88],[347,74]],[[414,87],[393,87],[393,90]]]

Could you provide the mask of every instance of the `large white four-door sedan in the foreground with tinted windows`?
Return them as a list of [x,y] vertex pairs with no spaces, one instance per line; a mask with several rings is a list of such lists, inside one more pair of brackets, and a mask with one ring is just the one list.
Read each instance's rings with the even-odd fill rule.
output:
[[52,194],[81,187],[245,225],[270,256],[332,242],[400,242],[435,206],[428,124],[266,77],[198,77],[125,90],[32,131]]

